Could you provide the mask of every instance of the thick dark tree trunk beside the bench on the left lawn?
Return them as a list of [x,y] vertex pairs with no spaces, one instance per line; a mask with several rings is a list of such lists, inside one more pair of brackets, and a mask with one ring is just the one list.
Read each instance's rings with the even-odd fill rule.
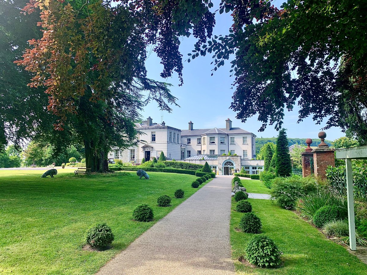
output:
[[86,167],[90,168],[91,172],[106,173],[108,172],[107,153],[94,144],[93,140],[84,140]]

